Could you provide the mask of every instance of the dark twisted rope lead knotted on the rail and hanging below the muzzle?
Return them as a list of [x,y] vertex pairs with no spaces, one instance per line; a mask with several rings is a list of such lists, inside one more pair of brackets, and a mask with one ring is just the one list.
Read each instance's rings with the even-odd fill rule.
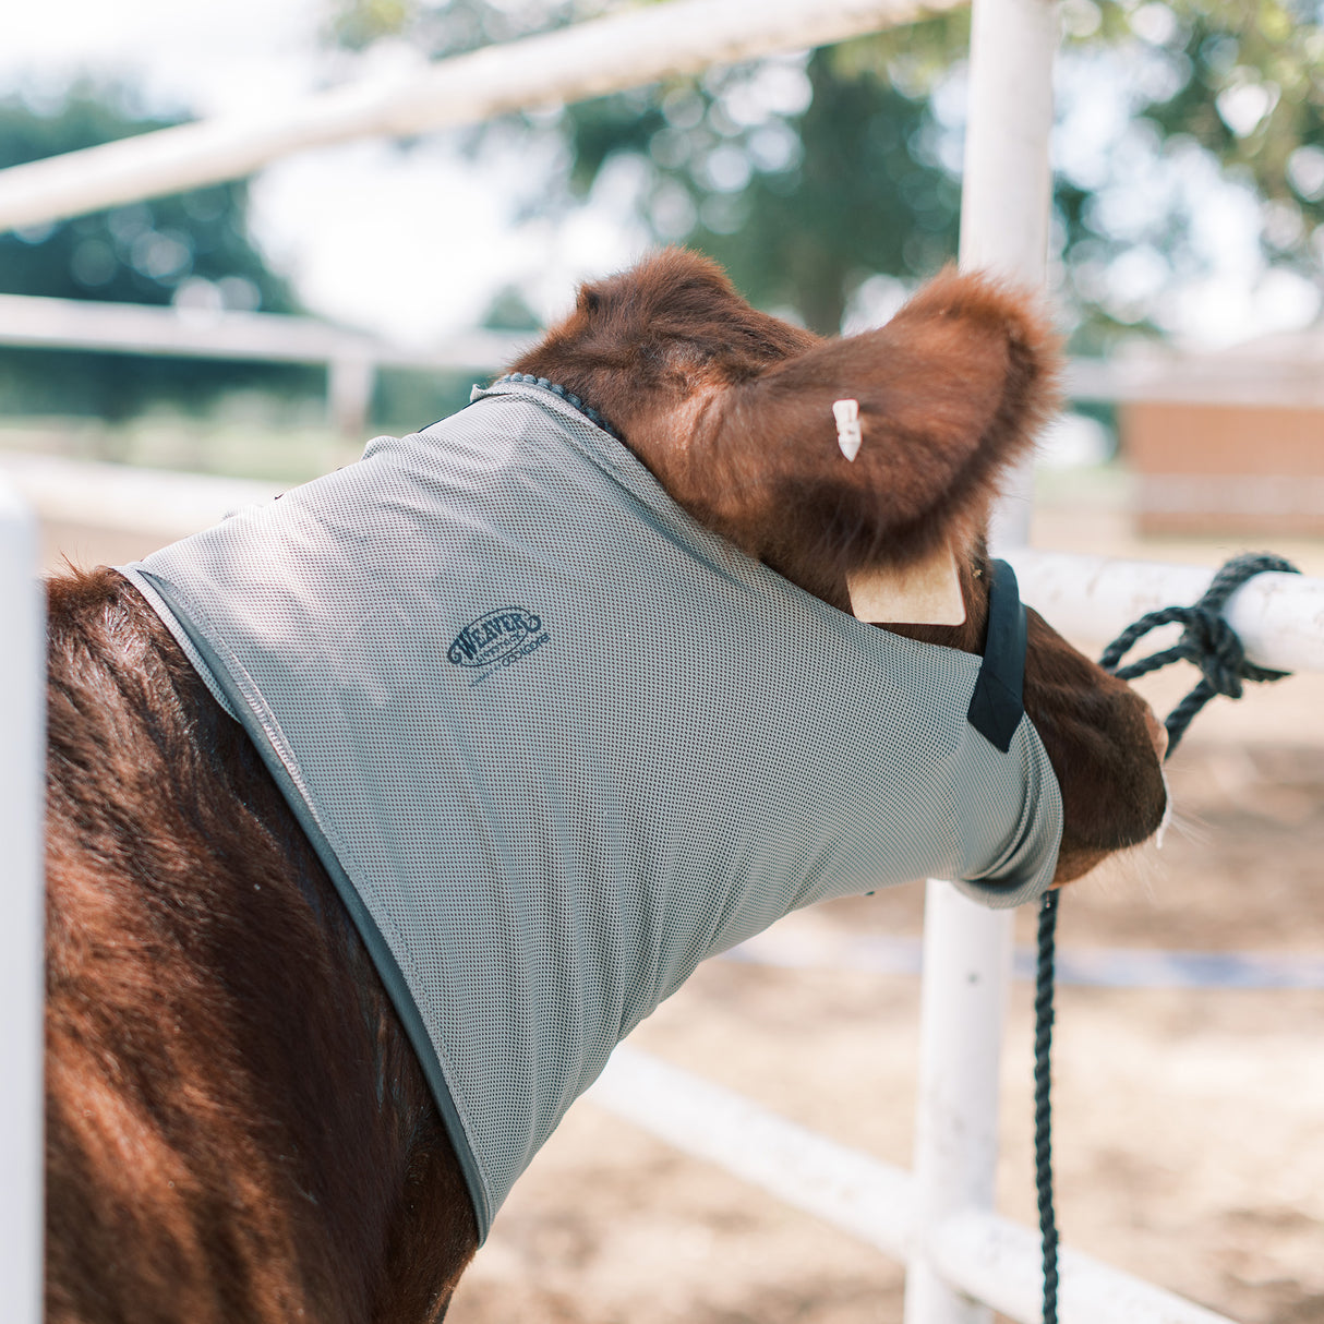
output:
[[[1222,609],[1249,579],[1266,572],[1299,575],[1282,556],[1268,553],[1234,556],[1213,577],[1194,606],[1168,606],[1149,612],[1128,626],[1103,650],[1099,665],[1123,681],[1148,675],[1172,662],[1190,662],[1201,679],[1168,714],[1168,753],[1181,743],[1192,719],[1215,694],[1239,699],[1243,681],[1280,681],[1286,671],[1270,671],[1246,661],[1246,650]],[[1128,666],[1123,657],[1160,625],[1185,626],[1177,643]],[[1057,949],[1058,890],[1045,894],[1039,908],[1039,960],[1034,982],[1034,1185],[1039,1200],[1039,1233],[1043,1245],[1043,1324],[1058,1324],[1058,1227],[1053,1204],[1053,965]]]

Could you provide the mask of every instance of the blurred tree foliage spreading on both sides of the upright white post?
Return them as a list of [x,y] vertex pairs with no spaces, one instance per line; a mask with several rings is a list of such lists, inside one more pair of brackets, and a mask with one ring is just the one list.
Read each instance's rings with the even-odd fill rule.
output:
[[[605,8],[331,0],[328,32],[342,45],[392,36],[446,56]],[[1177,282],[1213,261],[1200,228],[1219,183],[1258,207],[1266,262],[1319,286],[1321,0],[1064,0],[1062,15],[1055,257],[1080,347],[1162,324]],[[837,330],[875,277],[911,281],[955,254],[967,44],[959,12],[552,119],[515,117],[567,148],[559,179],[528,205],[572,205],[613,171],[628,175],[658,240],[710,252],[755,302]],[[1116,120],[1108,135],[1090,123],[1100,105]],[[474,131],[473,144],[508,123]]]

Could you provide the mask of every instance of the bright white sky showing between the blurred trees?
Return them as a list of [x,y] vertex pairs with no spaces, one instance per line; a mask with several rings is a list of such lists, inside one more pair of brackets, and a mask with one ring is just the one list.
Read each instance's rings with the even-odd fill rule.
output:
[[[318,40],[324,9],[324,0],[20,4],[5,16],[0,89],[23,87],[40,103],[91,75],[134,89],[144,111],[211,117],[278,107],[347,77],[421,64],[400,44],[367,57],[327,49]],[[1116,82],[1115,70],[1091,77],[1074,68],[1061,87],[1057,164],[1090,177],[1111,162],[1117,183],[1102,195],[1103,205],[1123,228],[1133,218],[1137,233],[1147,205],[1164,191],[1207,201],[1197,209],[1197,238],[1213,274],[1165,301],[1169,328],[1218,346],[1305,324],[1317,295],[1296,278],[1266,278],[1258,212],[1245,189],[1222,184],[1196,158],[1165,162],[1161,177],[1144,175],[1143,151],[1125,160]],[[408,152],[368,140],[323,148],[256,177],[254,234],[314,312],[391,340],[421,347],[473,326],[508,283],[526,287],[535,310],[553,316],[579,279],[626,265],[646,237],[610,196],[556,225],[516,222],[519,173],[510,156],[466,160],[445,138]],[[1160,275],[1161,258],[1137,241],[1100,281],[1125,308],[1152,293]],[[886,316],[896,303],[895,282],[875,283],[879,303],[857,310],[863,320]]]

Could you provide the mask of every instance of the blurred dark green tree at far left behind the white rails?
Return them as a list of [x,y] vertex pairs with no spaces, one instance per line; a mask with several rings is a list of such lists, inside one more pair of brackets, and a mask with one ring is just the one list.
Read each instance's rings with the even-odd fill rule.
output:
[[[172,120],[79,87],[52,113],[0,102],[0,168],[91,147]],[[289,285],[248,236],[248,188],[220,184],[0,234],[0,293],[294,312]],[[0,408],[123,418],[148,402],[197,408],[234,388],[320,392],[318,369],[13,350],[0,354]]]

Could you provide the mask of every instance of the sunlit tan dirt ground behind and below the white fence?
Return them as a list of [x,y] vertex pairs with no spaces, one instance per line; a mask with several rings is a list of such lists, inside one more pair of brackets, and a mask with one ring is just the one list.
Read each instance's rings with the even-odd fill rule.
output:
[[[1038,516],[1043,545],[1197,564],[1238,549],[1140,544],[1116,500],[1067,496]],[[124,527],[58,512],[45,532],[52,565],[61,551],[95,564],[167,540],[143,544]],[[1324,544],[1276,549],[1324,575]],[[1166,711],[1186,685],[1157,682],[1156,707]],[[1221,700],[1170,771],[1180,818],[1164,851],[1075,884],[1063,951],[1324,959],[1324,677]],[[1029,943],[1033,915],[1019,924]],[[779,925],[788,941],[829,951],[920,928],[919,886]],[[918,1002],[910,974],[716,960],[633,1042],[908,1168]],[[1055,1078],[1068,1245],[1243,1324],[1324,1324],[1324,989],[1066,986]],[[1017,984],[998,1207],[1027,1225],[1030,1088],[1030,990]],[[900,1320],[902,1298],[900,1267],[878,1253],[585,1100],[516,1186],[448,1319],[878,1324]]]

